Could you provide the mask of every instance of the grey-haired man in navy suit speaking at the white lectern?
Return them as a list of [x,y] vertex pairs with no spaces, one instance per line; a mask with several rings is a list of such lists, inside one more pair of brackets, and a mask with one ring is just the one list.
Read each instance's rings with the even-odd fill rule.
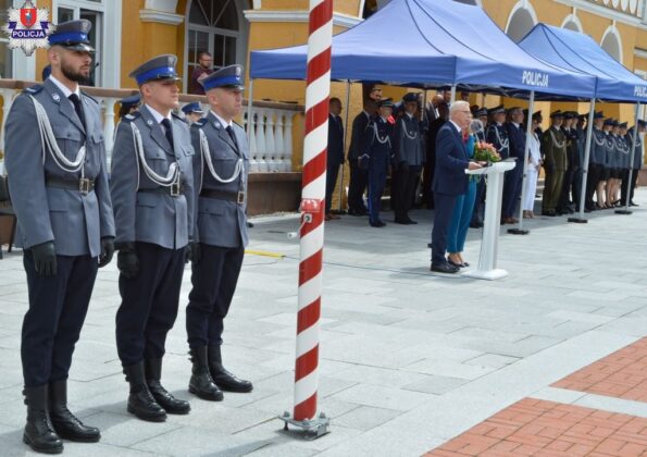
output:
[[456,203],[456,197],[468,192],[465,169],[477,170],[481,165],[468,160],[463,131],[470,125],[472,113],[470,103],[457,101],[449,109],[449,122],[438,131],[436,137],[436,170],[432,190],[436,203],[434,228],[432,231],[432,271],[456,273],[445,258],[447,230]]

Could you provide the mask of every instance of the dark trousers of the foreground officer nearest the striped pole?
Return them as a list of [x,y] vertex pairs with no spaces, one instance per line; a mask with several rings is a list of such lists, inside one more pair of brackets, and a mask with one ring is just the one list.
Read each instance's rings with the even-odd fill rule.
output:
[[224,319],[229,311],[245,248],[225,248],[200,244],[202,258],[191,267],[186,332],[189,347],[220,346]]

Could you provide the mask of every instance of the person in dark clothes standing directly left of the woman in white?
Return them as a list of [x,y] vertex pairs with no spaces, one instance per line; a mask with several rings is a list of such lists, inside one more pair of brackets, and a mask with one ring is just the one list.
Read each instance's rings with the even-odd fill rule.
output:
[[509,122],[503,125],[508,132],[509,157],[517,159],[514,168],[505,175],[503,202],[501,208],[501,223],[515,224],[517,202],[521,195],[523,181],[523,162],[525,155],[525,132],[523,131],[523,111],[519,107],[508,110]]

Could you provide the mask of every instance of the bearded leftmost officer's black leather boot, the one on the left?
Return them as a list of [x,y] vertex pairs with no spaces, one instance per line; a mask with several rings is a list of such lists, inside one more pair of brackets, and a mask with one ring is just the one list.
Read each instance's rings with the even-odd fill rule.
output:
[[25,387],[27,405],[27,424],[23,442],[32,449],[42,454],[61,454],[63,442],[57,434],[47,411],[47,384],[38,387]]

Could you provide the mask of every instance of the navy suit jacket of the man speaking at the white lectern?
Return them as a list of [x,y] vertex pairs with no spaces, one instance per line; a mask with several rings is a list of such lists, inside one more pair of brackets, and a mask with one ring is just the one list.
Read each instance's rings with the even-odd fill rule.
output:
[[436,170],[432,189],[438,194],[463,195],[468,192],[470,166],[461,134],[451,122],[438,131],[436,137]]

